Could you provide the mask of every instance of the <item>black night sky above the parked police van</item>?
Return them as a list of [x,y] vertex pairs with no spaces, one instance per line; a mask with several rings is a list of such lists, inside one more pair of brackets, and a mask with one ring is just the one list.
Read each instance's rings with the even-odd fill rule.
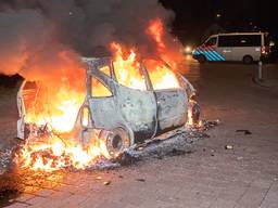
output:
[[[184,43],[200,42],[205,30],[217,23],[226,31],[269,31],[278,35],[276,0],[160,0],[176,13],[173,32]],[[220,14],[219,18],[216,15]]]

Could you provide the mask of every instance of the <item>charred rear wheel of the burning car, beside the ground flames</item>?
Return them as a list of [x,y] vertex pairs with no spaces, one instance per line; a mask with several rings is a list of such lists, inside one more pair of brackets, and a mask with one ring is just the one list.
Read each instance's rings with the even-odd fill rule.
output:
[[116,158],[130,147],[129,133],[123,128],[116,128],[112,131],[103,130],[101,132],[101,139],[104,140],[108,152],[112,158]]

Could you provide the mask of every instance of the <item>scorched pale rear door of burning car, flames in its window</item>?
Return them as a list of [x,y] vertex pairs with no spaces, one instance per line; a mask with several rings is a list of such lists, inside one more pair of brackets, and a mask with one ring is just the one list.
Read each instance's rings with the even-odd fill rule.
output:
[[121,66],[115,63],[115,102],[125,123],[141,141],[152,138],[157,128],[156,101],[150,91],[141,66]]

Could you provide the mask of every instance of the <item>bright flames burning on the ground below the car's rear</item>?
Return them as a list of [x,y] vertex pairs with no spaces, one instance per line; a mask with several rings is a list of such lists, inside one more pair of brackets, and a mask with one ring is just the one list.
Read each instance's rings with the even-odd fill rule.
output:
[[18,153],[16,161],[22,168],[51,172],[67,167],[85,169],[101,156],[110,158],[104,141],[97,140],[96,143],[84,148],[80,144],[51,136],[42,143],[28,142]]

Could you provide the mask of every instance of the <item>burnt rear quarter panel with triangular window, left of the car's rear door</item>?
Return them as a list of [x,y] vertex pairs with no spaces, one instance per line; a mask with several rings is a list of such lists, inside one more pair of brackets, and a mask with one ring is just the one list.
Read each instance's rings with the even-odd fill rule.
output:
[[[102,63],[106,64],[106,63]],[[110,65],[93,63],[87,70],[87,96],[80,107],[75,127],[80,142],[85,145],[96,138],[96,129],[112,130],[121,123],[116,110]],[[104,70],[102,70],[104,69]],[[97,135],[98,136],[98,135]]]

